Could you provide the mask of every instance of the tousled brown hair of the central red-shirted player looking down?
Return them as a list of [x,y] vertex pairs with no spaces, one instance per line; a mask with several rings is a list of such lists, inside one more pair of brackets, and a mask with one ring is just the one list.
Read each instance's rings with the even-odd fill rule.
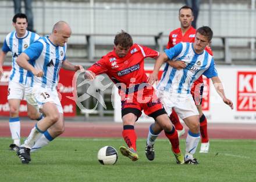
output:
[[123,48],[130,48],[133,45],[133,38],[125,31],[118,32],[114,39],[115,45],[120,45]]

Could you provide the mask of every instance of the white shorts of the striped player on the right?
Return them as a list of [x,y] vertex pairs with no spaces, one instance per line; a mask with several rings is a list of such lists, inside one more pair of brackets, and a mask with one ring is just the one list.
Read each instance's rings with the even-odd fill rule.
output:
[[168,116],[172,114],[173,108],[182,119],[199,115],[191,94],[179,94],[165,90],[157,90],[157,96],[161,100]]

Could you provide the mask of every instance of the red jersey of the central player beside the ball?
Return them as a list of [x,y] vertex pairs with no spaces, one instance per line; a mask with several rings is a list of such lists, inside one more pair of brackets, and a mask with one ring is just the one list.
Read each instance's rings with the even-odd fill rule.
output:
[[120,58],[115,50],[109,52],[88,68],[96,75],[107,74],[114,83],[138,84],[147,82],[147,75],[144,70],[144,59],[146,57],[157,57],[159,53],[145,46],[134,44],[125,57]]

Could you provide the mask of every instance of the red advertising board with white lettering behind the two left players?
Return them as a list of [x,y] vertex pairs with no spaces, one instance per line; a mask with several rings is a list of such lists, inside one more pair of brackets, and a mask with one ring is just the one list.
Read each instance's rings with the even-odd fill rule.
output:
[[[3,75],[0,80],[0,116],[9,116],[9,104],[7,100],[8,95],[8,81],[10,70],[12,67],[3,66]],[[61,69],[59,76],[58,92],[59,99],[63,107],[63,112],[65,117],[76,116],[76,102],[67,98],[67,96],[73,96],[72,79],[74,77],[73,71],[67,71]],[[27,116],[27,103],[22,101],[19,108],[20,116]]]

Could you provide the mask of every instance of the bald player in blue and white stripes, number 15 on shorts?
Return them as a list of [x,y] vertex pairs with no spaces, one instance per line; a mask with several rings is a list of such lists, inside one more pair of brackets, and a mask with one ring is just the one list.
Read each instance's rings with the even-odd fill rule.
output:
[[22,163],[29,163],[31,149],[43,147],[64,132],[63,109],[56,90],[59,70],[61,67],[83,70],[81,65],[66,60],[66,42],[70,35],[69,25],[58,21],[49,37],[38,39],[17,58],[17,64],[29,71],[26,84],[31,86],[32,94],[27,96],[27,101],[39,107],[45,115],[31,130],[22,147],[16,147]]

